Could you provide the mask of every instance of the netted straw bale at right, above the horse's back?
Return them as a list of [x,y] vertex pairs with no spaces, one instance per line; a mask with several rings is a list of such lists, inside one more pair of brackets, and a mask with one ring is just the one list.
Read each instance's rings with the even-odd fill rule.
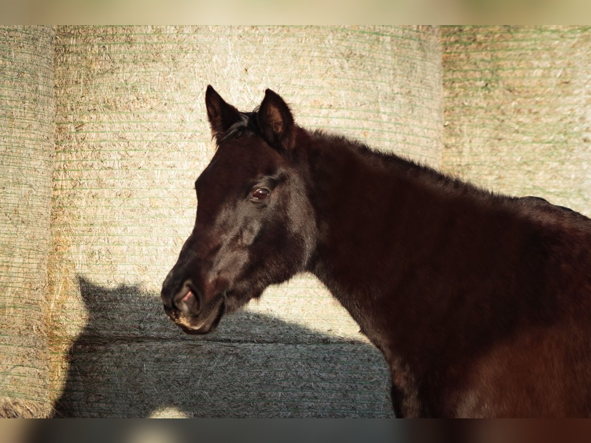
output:
[[443,167],[591,215],[591,28],[444,27]]

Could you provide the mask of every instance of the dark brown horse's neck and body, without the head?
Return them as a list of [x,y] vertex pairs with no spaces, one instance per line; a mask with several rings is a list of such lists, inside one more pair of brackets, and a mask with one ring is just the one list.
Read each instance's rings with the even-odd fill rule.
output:
[[330,198],[308,270],[384,353],[397,416],[591,413],[589,219],[313,145],[311,195]]

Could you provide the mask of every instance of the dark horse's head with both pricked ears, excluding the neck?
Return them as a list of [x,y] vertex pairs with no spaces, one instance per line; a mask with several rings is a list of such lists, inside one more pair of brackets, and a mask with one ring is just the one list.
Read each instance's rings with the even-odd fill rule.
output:
[[161,292],[189,334],[213,331],[225,313],[306,269],[316,229],[298,161],[303,130],[284,100],[268,89],[255,112],[239,112],[208,86],[206,109],[217,149],[195,182],[193,232]]

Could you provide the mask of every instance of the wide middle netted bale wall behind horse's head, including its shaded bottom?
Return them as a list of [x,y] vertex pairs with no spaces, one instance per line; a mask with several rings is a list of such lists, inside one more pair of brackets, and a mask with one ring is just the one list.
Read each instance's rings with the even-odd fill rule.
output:
[[271,88],[302,126],[439,167],[439,29],[56,32],[56,415],[392,416],[384,359],[312,276],[269,288],[204,337],[174,327],[159,294],[215,148],[207,84],[241,110]]

